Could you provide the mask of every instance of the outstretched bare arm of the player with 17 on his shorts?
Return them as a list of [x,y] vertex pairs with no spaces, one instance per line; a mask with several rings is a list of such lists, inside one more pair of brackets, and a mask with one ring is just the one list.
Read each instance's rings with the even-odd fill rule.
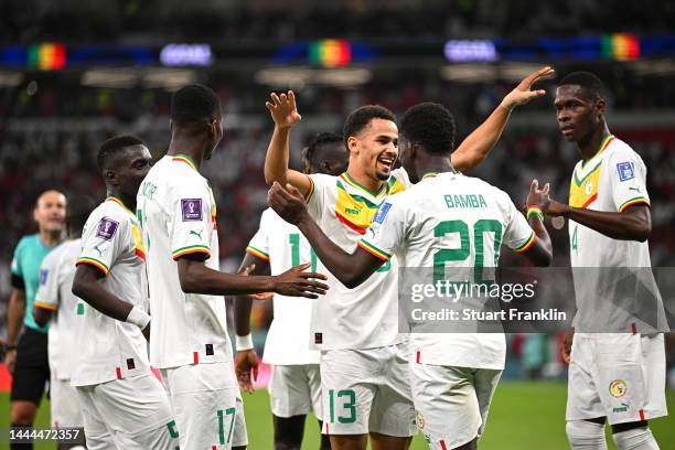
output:
[[282,296],[315,299],[328,290],[326,285],[317,281],[325,280],[324,275],[304,271],[310,264],[293,267],[277,276],[249,277],[210,269],[199,257],[199,254],[189,254],[178,260],[179,280],[185,293],[239,296],[277,292]]

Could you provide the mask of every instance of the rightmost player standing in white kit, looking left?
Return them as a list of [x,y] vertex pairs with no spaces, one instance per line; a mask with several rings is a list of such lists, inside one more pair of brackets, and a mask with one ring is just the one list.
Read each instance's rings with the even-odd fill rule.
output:
[[[610,133],[596,75],[578,72],[562,78],[555,106],[562,136],[581,156],[569,205],[543,205],[544,213],[569,219],[575,270],[576,334],[568,334],[564,354],[570,364],[567,436],[572,449],[607,449],[607,418],[620,450],[657,449],[647,419],[667,415],[658,333],[667,328],[646,243],[646,168]],[[652,320],[643,320],[641,309]]]

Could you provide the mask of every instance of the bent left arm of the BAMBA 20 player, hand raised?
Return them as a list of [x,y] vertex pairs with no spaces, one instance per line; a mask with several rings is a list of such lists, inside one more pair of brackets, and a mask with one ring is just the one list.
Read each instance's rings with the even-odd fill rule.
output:
[[364,282],[384,261],[361,247],[347,254],[333,243],[309,215],[300,192],[287,184],[275,183],[267,197],[269,205],[281,218],[298,227],[307,237],[321,262],[350,289]]

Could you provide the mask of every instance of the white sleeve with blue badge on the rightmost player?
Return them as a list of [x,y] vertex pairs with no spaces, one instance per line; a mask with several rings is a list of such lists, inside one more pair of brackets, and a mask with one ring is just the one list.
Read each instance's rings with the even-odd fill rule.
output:
[[650,205],[646,190],[646,167],[642,159],[630,148],[618,148],[609,158],[609,184],[617,211],[630,206]]

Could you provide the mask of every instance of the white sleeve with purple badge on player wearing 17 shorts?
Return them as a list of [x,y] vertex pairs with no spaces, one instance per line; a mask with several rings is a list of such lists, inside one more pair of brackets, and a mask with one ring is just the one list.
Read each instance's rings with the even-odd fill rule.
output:
[[171,257],[178,260],[181,256],[202,254],[205,259],[211,258],[214,200],[206,183],[192,183],[175,191],[172,211],[169,224]]

